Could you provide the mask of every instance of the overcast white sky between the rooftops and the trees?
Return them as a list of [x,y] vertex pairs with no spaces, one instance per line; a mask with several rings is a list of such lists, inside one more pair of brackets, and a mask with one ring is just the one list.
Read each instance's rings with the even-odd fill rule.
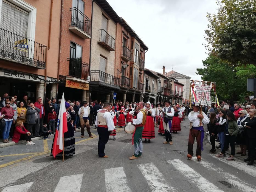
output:
[[200,80],[196,68],[207,58],[202,45],[207,12],[216,13],[215,0],[107,0],[149,48],[145,67],[173,70]]

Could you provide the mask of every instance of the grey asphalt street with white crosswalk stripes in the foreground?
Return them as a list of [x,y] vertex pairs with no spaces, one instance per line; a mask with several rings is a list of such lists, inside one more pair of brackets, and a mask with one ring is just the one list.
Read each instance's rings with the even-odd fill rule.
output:
[[[211,155],[207,136],[202,161],[187,160],[187,120],[182,131],[173,134],[173,145],[162,144],[164,136],[157,131],[151,143],[143,143],[142,157],[136,160],[128,159],[133,154],[132,135],[123,129],[118,129],[116,141],[110,136],[105,149],[109,158],[98,157],[97,136],[80,139],[77,132],[76,154],[64,162],[47,152],[52,141],[35,141],[41,153],[0,168],[0,191],[256,191],[255,165]],[[92,132],[97,135],[96,129]],[[196,143],[194,153],[195,148]]]

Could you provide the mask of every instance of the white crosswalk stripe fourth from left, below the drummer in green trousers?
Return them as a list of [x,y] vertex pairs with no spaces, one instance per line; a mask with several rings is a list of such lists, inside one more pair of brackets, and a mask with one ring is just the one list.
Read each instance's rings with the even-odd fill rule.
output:
[[152,191],[175,191],[173,187],[165,184],[167,181],[165,181],[163,174],[153,163],[139,164],[138,167]]

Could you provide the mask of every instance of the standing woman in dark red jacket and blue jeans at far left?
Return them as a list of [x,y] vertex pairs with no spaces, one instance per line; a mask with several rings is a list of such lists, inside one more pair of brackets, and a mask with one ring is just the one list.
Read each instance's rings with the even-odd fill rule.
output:
[[10,106],[10,101],[5,101],[5,107],[1,109],[1,114],[4,114],[5,127],[3,129],[3,143],[9,143],[9,132],[13,123],[13,108]]

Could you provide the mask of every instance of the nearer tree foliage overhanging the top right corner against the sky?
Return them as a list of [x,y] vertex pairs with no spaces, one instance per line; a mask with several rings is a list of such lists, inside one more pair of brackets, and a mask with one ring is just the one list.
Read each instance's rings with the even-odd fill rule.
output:
[[218,13],[207,13],[205,47],[231,66],[256,65],[256,1],[217,1]]

